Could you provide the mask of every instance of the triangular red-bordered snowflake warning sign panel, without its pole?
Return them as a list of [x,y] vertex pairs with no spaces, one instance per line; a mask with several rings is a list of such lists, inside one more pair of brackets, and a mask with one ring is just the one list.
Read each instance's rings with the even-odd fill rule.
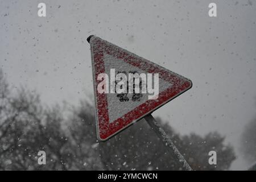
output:
[[[89,36],[88,42],[92,53],[97,137],[99,140],[109,139],[192,86],[192,82],[187,78],[106,42],[106,40],[102,40],[97,36]],[[106,76],[102,77],[102,73]],[[109,90],[109,88],[111,90],[111,86],[117,84],[113,78],[115,79],[115,74],[118,73],[123,73],[124,75],[129,75],[129,73],[158,75],[158,96],[148,99],[150,98],[150,92],[98,92],[99,86],[102,85],[102,80],[106,81],[104,83],[108,82],[108,84],[104,85],[105,91]],[[156,80],[150,83],[154,85]],[[141,86],[141,82],[139,84]],[[148,86],[148,81],[146,85]],[[106,86],[109,88],[105,88]]]

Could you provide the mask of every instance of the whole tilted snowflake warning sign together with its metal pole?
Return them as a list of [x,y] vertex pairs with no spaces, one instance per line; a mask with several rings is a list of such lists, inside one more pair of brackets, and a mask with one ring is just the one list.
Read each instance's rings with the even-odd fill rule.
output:
[[151,115],[190,89],[191,80],[97,36],[91,35],[87,41],[92,55],[97,138],[108,140],[144,118],[183,168],[192,170]]

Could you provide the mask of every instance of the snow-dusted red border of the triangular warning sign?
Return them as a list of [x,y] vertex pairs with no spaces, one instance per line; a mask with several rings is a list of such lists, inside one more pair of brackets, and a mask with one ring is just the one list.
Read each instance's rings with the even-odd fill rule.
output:
[[[91,59],[92,59],[92,74],[93,74],[93,89],[94,89],[94,102],[96,106],[96,129],[97,129],[97,138],[100,141],[108,140],[109,138],[113,137],[115,134],[119,133],[120,131],[126,129],[133,123],[142,119],[145,115],[152,113],[152,111],[158,109],[159,107],[163,106],[167,102],[171,101],[172,99],[176,98],[180,94],[184,93],[188,89],[192,87],[192,81],[188,78],[185,78],[177,73],[174,73],[166,68],[161,67],[158,64],[152,63],[149,60],[144,59],[143,57],[137,56],[134,53],[127,51],[121,47],[115,46],[112,43],[107,42],[97,36],[92,36],[89,41],[90,43],[90,51],[91,51]],[[102,57],[105,51],[112,51],[113,56],[121,56],[118,59],[122,59],[126,63],[134,65],[143,69],[145,72],[148,73],[159,73],[159,78],[163,78],[164,80],[170,82],[174,86],[166,89],[164,92],[159,93],[159,102],[155,100],[148,100],[144,102],[142,105],[147,105],[147,110],[142,110],[144,107],[140,105],[133,111],[125,114],[123,117],[117,119],[113,123],[109,123],[109,116],[108,116],[108,102],[106,100],[106,94],[99,94],[96,92],[97,84],[100,81],[97,81],[96,75],[100,73],[105,73],[105,67],[102,66]],[[112,53],[107,52],[108,54],[112,55]],[[96,56],[95,56],[96,54]],[[139,60],[139,63],[138,63]],[[143,63],[143,64],[141,64]],[[100,105],[104,105],[99,108],[99,101]],[[103,104],[101,103],[103,101]],[[104,103],[106,102],[106,103]],[[159,104],[160,103],[160,104]],[[141,110],[139,110],[141,109]],[[138,110],[141,114],[138,114]],[[100,119],[99,119],[100,118]],[[127,118],[127,119],[123,119]],[[134,118],[134,119],[132,119]],[[104,129],[104,130],[103,130]]]

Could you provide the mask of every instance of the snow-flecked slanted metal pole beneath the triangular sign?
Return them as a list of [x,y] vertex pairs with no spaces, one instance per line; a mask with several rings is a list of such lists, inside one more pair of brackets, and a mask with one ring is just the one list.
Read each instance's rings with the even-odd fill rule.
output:
[[156,135],[164,142],[164,145],[168,146],[168,150],[174,153],[174,155],[179,159],[179,162],[183,164],[183,168],[187,171],[192,171],[193,169],[189,166],[187,161],[184,159],[183,155],[180,154],[180,151],[177,149],[172,140],[168,137],[165,131],[159,126],[158,122],[155,121],[155,118],[148,114],[144,119],[150,125],[151,129],[155,131]]

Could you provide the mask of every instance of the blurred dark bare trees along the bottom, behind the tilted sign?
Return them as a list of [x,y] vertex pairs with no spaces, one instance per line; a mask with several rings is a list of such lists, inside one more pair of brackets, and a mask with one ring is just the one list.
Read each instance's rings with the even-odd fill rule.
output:
[[[20,88],[16,93],[0,70],[1,170],[180,170],[181,166],[147,123],[130,126],[107,142],[96,139],[93,106],[81,102],[68,117],[62,107],[43,106],[38,94]],[[156,120],[195,170],[225,170],[235,159],[232,146],[217,132],[205,137],[181,136],[160,118]],[[38,152],[46,151],[46,165]],[[208,152],[217,152],[209,165]]]

